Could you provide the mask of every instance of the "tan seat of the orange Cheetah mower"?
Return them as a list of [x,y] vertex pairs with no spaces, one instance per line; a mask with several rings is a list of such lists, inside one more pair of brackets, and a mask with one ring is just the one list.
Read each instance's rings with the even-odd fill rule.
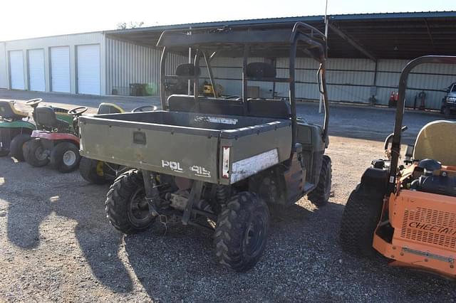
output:
[[456,166],[456,122],[426,124],[416,138],[413,159],[435,159],[442,165]]

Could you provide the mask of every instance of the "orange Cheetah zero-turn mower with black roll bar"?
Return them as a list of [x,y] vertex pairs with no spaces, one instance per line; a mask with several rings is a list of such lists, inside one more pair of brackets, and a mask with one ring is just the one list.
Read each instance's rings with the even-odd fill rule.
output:
[[348,198],[340,242],[353,255],[380,252],[390,265],[455,278],[456,122],[425,125],[399,165],[408,75],[423,63],[456,64],[456,57],[424,56],[403,69],[385,159],[372,161]]

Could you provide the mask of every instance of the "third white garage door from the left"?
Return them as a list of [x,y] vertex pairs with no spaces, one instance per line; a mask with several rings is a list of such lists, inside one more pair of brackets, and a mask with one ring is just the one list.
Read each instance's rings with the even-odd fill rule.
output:
[[70,48],[51,48],[51,90],[70,92]]

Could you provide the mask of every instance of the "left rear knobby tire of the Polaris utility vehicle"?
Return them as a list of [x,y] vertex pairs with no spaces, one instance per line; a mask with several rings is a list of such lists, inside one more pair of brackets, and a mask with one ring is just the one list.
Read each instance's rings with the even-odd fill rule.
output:
[[106,198],[105,211],[109,222],[122,233],[139,233],[155,222],[145,199],[142,173],[137,169],[118,176]]

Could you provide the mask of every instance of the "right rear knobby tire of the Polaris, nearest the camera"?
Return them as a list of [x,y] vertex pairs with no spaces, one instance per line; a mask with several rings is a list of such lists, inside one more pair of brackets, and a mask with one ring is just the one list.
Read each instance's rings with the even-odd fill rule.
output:
[[217,218],[214,244],[220,264],[245,272],[259,261],[269,229],[269,210],[254,193],[238,193],[229,199]]

